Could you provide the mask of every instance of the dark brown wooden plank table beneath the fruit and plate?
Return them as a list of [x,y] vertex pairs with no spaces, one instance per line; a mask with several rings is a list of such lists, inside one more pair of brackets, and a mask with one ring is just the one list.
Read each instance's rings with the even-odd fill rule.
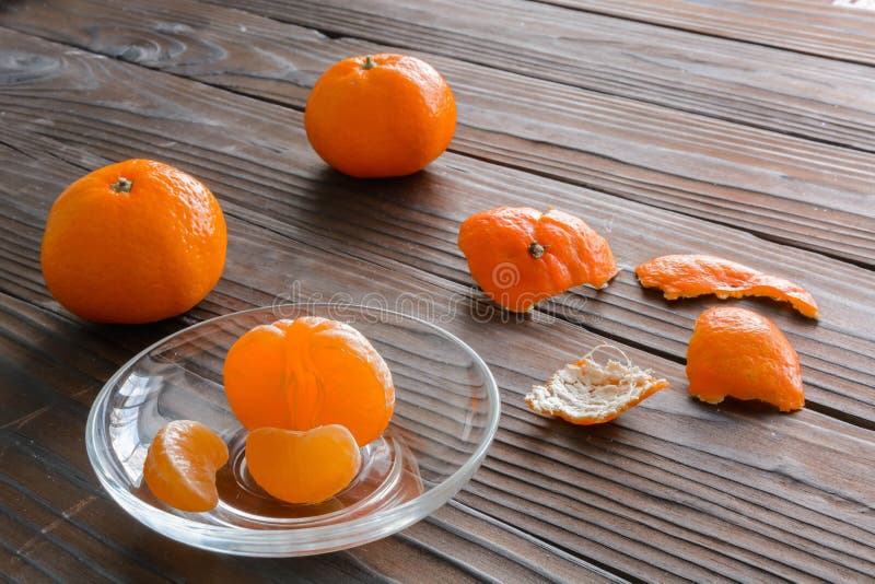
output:
[[[853,3],[853,2],[842,2]],[[862,3],[862,2],[861,2]],[[245,4],[236,10],[235,4]],[[352,4],[352,8],[348,4]],[[424,172],[354,180],[302,112],[330,63],[433,63],[459,126]],[[875,12],[827,0],[7,0],[0,4],[2,572],[21,581],[872,581],[875,574]],[[128,157],[203,179],[230,229],[189,313],[97,326],[47,292],[39,243],[75,177]],[[495,315],[456,247],[500,205],[557,207],[622,270],[524,322]],[[800,353],[779,414],[687,396],[692,323],[633,267],[710,253],[788,277],[815,323],[754,307]],[[503,412],[474,480],[384,540],[306,559],[177,545],[100,488],[83,432],[102,384],[154,340],[276,299],[417,294],[492,369]],[[614,423],[522,396],[608,341],[667,377]]]

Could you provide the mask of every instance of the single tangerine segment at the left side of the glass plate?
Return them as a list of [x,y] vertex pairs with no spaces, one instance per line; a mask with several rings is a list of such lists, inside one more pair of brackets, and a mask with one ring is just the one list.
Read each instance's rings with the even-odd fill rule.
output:
[[210,511],[219,503],[215,471],[228,446],[200,422],[174,420],[155,434],[145,455],[143,479],[152,494],[180,511]]

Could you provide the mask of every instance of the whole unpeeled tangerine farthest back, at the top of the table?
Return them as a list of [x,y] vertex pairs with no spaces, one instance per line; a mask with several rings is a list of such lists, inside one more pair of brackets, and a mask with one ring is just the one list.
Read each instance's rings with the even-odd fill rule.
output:
[[446,150],[456,102],[444,78],[416,57],[352,57],[316,81],[304,127],[313,150],[341,173],[404,176]]

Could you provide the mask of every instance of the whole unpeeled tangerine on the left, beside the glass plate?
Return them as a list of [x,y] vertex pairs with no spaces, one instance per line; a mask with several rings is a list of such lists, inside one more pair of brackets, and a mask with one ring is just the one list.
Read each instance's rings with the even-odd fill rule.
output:
[[219,281],[228,234],[202,183],[160,162],[94,171],[52,205],[43,236],[46,285],[97,323],[151,323],[191,308]]

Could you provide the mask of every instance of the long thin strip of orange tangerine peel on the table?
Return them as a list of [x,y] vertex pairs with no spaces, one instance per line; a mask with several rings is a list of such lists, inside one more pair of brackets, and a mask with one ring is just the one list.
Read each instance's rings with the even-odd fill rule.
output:
[[667,300],[702,294],[716,294],[720,299],[768,296],[790,302],[809,318],[818,316],[817,302],[801,285],[714,256],[662,256],[640,265],[635,273],[641,285],[661,289]]

